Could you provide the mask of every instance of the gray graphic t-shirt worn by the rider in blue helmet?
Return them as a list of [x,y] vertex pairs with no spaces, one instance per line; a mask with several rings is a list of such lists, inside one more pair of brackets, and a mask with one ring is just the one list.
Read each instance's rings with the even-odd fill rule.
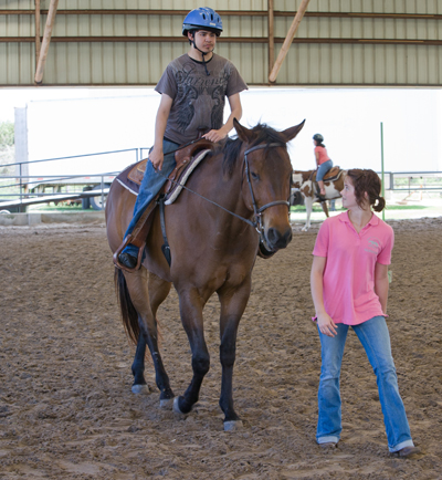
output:
[[238,70],[227,59],[213,54],[206,63],[188,54],[169,63],[155,90],[172,100],[165,136],[177,144],[186,144],[208,132],[221,128],[225,97],[248,88]]

